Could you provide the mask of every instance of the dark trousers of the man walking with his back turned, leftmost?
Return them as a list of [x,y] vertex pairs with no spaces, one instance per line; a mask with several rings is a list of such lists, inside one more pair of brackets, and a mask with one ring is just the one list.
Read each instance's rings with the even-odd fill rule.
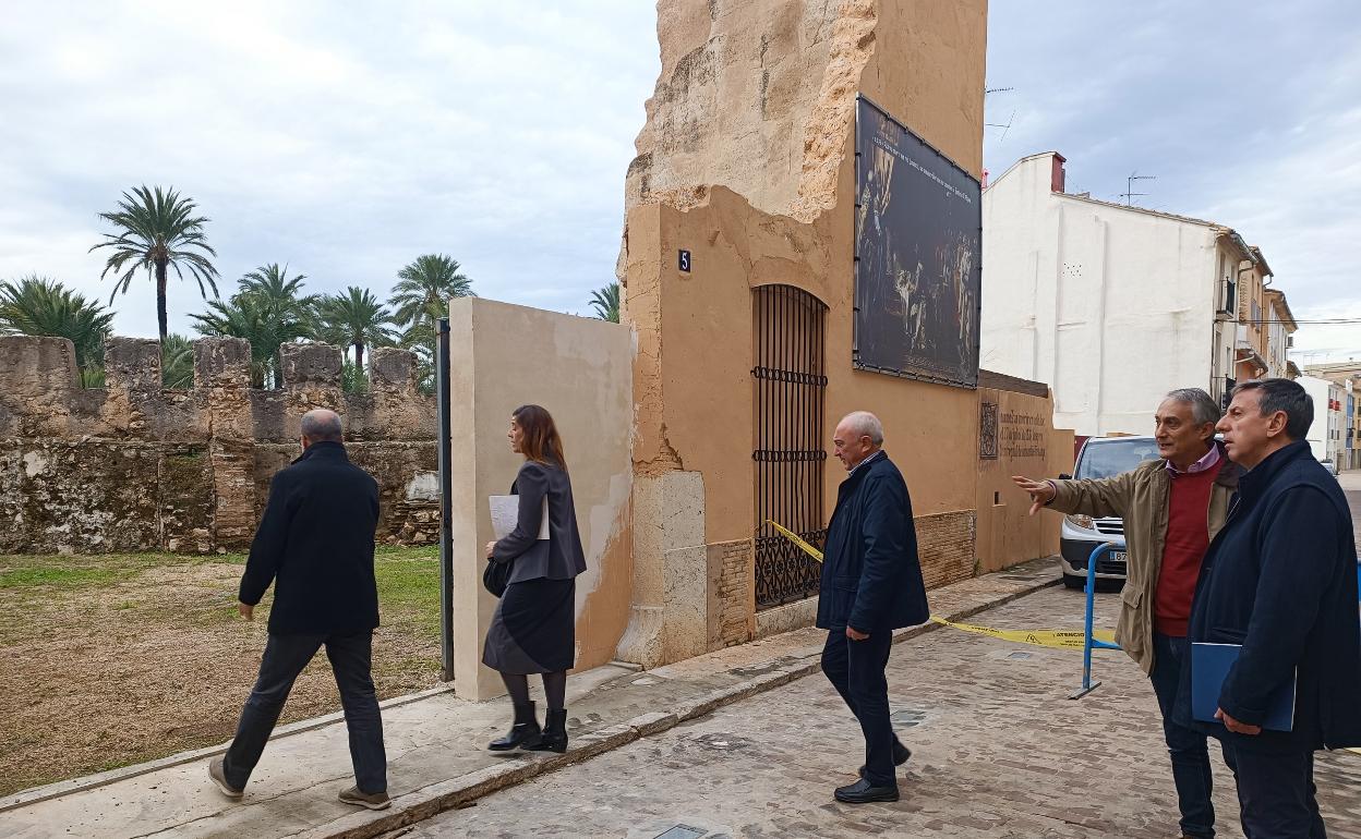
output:
[[269,635],[260,661],[260,677],[241,710],[237,736],[227,748],[222,767],[231,786],[245,789],[264,752],[264,744],[269,741],[269,733],[279,721],[293,683],[323,645],[336,676],[336,687],[340,688],[344,723],[350,730],[354,779],[361,793],[388,791],[382,718],[370,676],[373,632],[367,630],[347,635]]

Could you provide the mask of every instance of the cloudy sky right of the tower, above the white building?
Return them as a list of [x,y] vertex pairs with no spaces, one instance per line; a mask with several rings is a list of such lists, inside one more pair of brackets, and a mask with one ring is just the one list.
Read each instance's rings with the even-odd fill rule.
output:
[[[995,0],[985,166],[1059,151],[1067,189],[1237,230],[1297,320],[1361,321],[1361,18],[1345,0]],[[1003,136],[1004,132],[1004,136]],[[987,301],[984,301],[987,306]],[[1297,360],[1361,359],[1361,324]],[[1323,351],[1330,351],[1324,354]]]

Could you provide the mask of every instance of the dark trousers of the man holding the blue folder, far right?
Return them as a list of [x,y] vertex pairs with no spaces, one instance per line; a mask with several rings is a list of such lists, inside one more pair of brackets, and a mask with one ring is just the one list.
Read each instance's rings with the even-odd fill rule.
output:
[[1327,839],[1313,785],[1313,752],[1273,755],[1224,741],[1224,760],[1239,783],[1248,839]]

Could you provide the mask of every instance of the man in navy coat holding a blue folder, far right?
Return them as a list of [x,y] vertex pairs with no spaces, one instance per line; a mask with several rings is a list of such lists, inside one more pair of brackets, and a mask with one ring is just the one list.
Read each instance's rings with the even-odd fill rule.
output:
[[[1218,426],[1249,472],[1206,552],[1188,638],[1241,650],[1219,692],[1219,722],[1192,721],[1190,691],[1176,713],[1224,742],[1248,839],[1324,836],[1313,752],[1361,745],[1356,541],[1346,496],[1304,439],[1312,422],[1304,388],[1262,379],[1233,390]],[[1267,698],[1292,679],[1292,730],[1263,729]]]

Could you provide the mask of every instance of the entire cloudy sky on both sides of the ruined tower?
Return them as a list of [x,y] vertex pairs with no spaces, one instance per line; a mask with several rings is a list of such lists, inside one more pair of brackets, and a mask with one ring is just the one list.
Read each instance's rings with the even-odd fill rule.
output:
[[[87,253],[137,184],[211,218],[220,290],[287,262],[385,295],[421,253],[478,294],[587,313],[614,279],[623,173],[659,68],[648,0],[14,3],[0,27],[0,279],[108,301]],[[985,159],[1057,150],[1102,199],[1259,245],[1296,317],[1361,320],[1361,23],[1343,0],[996,0]],[[1003,133],[1004,132],[1004,133]],[[1349,242],[1351,242],[1349,245]],[[170,288],[171,329],[200,310]],[[116,302],[155,335],[152,284]],[[1297,344],[1361,358],[1361,326]]]

